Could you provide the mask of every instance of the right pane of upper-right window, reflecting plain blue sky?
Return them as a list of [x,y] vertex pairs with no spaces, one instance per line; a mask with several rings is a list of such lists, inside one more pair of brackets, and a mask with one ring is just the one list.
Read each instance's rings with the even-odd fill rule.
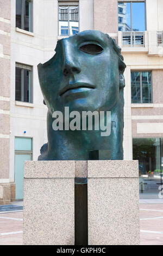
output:
[[132,3],[133,31],[145,31],[145,3]]

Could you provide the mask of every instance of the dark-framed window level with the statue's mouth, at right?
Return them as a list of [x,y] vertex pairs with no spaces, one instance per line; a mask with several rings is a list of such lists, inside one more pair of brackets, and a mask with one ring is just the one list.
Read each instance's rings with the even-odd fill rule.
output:
[[131,72],[131,103],[152,103],[151,71]]

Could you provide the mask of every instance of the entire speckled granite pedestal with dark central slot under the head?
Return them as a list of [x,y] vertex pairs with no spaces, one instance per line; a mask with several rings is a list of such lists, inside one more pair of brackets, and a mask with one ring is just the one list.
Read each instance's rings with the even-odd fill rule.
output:
[[74,178],[83,176],[88,244],[139,245],[138,175],[138,161],[25,162],[24,245],[74,245]]

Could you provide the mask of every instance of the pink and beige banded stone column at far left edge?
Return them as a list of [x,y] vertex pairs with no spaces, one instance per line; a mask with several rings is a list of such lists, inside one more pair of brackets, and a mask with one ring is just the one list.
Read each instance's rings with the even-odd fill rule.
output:
[[[10,138],[10,0],[0,0],[0,204],[14,200],[9,174]],[[11,196],[12,193],[12,196]]]

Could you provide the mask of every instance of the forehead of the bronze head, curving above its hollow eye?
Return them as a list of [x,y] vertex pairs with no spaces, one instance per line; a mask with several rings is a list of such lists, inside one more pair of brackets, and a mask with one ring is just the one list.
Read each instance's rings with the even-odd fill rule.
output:
[[[108,46],[110,44],[109,36],[102,33],[101,31],[83,31],[79,34],[75,34],[72,36],[69,36],[68,38],[64,38],[58,41],[58,44],[65,44],[65,43],[73,43],[80,44],[80,42],[86,42],[86,41],[96,41],[99,44],[102,44],[103,46]],[[57,48],[57,47],[56,47]]]

